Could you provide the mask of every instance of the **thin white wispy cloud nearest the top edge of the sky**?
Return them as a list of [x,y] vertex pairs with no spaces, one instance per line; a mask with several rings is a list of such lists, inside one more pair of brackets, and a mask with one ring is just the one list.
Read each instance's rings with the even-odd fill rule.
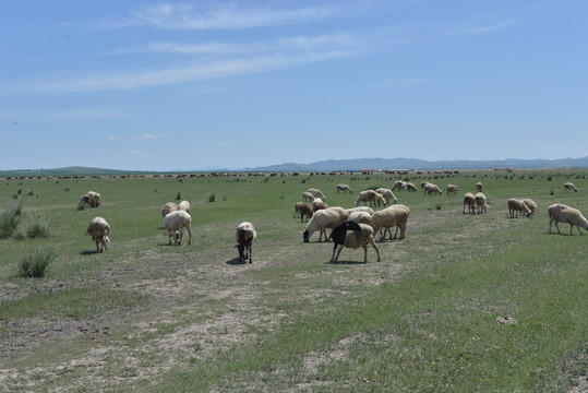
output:
[[131,10],[128,17],[103,17],[92,23],[97,28],[151,26],[163,29],[228,29],[301,24],[327,17],[326,7],[273,10],[242,9],[235,2],[213,3],[202,9],[189,3],[158,3]]

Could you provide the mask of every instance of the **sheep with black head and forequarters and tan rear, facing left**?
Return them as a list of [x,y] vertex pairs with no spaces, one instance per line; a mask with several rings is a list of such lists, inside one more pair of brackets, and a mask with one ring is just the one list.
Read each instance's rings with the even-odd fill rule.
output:
[[[348,230],[352,230],[348,233]],[[344,247],[350,249],[363,248],[363,263],[368,262],[368,243],[372,245],[377,254],[377,262],[381,261],[380,249],[373,240],[374,230],[371,226],[367,224],[358,224],[352,221],[346,221],[338,224],[331,231],[329,238],[333,238],[333,255],[331,255],[329,262],[337,262]],[[335,257],[335,250],[337,250],[337,255]]]

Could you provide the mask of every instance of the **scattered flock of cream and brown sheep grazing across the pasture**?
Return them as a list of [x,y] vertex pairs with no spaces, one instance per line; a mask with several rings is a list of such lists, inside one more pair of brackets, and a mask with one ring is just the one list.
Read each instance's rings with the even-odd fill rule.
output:
[[[337,184],[337,192],[352,193],[351,188],[348,184]],[[393,239],[392,229],[396,228],[394,238],[403,240],[406,237],[406,226],[410,210],[404,204],[398,204],[398,199],[394,194],[393,190],[407,190],[417,191],[417,187],[410,182],[398,180],[394,183],[392,189],[379,188],[377,190],[361,191],[356,199],[355,207],[343,209],[339,206],[328,206],[325,201],[325,194],[314,188],[310,188],[302,193],[303,202],[295,204],[295,217],[299,216],[301,222],[304,218],[308,224],[302,233],[302,239],[304,242],[309,242],[310,237],[314,233],[319,233],[319,241],[333,240],[333,255],[331,262],[338,260],[343,248],[363,248],[364,258],[363,263],[368,262],[368,245],[371,245],[377,254],[377,261],[381,261],[380,250],[374,241],[374,236],[380,234],[380,240],[386,239],[386,233],[388,233],[388,239]],[[424,194],[442,194],[441,189],[433,183],[423,181],[421,183],[421,190]],[[487,198],[483,194],[483,184],[478,182],[476,184],[477,193],[467,192],[464,195],[464,211],[463,213],[470,214],[483,214],[488,212]],[[564,184],[564,191],[575,191],[577,188],[566,182]],[[458,188],[454,184],[447,184],[446,193],[448,196],[457,195]],[[363,202],[363,206],[360,203]],[[380,211],[373,211],[375,206],[386,206]],[[370,206],[368,206],[370,204]],[[79,209],[84,207],[98,207],[101,205],[101,196],[99,193],[88,191],[82,196],[79,203]],[[519,215],[529,217],[536,213],[537,203],[530,199],[515,199],[512,198],[507,201],[508,215],[511,218],[516,218]],[[571,206],[557,203],[548,207],[549,233],[551,234],[551,226],[555,223],[557,233],[561,234],[559,223],[569,224],[569,234],[572,235],[574,226],[578,228],[580,235],[583,235],[580,228],[588,230],[588,221],[577,210]],[[181,201],[179,204],[168,202],[161,207],[161,216],[164,217],[164,226],[168,235],[168,245],[172,241],[175,245],[180,246],[183,237],[183,229],[185,228],[189,235],[188,245],[192,243],[192,230],[190,216],[190,203],[188,201]],[[331,234],[327,237],[326,229],[331,229]],[[400,235],[398,237],[398,230]],[[108,234],[110,233],[110,225],[103,217],[95,217],[91,221],[87,227],[87,234],[92,236],[96,242],[96,251],[103,252],[107,250],[110,245]],[[239,252],[239,261],[249,263],[252,262],[251,251],[252,243],[256,239],[256,233],[253,225],[249,222],[239,224],[235,230],[235,239]],[[337,251],[338,248],[338,251]]]

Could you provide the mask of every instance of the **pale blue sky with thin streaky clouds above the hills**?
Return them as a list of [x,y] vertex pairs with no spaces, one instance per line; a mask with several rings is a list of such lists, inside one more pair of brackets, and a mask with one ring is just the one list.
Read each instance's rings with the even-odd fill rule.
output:
[[586,1],[4,1],[0,169],[588,155]]

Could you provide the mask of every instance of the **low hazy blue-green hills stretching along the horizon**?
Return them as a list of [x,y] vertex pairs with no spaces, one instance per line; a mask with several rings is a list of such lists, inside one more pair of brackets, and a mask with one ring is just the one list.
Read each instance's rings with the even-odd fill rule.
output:
[[[356,158],[328,159],[310,164],[285,163],[265,167],[215,170],[181,170],[176,172],[196,171],[329,171],[329,170],[360,170],[362,168],[376,169],[493,169],[496,167],[512,168],[588,168],[588,156],[581,158],[561,159],[492,159],[492,160],[423,160],[417,158]],[[67,167],[53,169],[14,169],[0,170],[0,176],[73,176],[73,175],[128,175],[128,174],[163,174],[153,170],[118,170],[88,167]]]

